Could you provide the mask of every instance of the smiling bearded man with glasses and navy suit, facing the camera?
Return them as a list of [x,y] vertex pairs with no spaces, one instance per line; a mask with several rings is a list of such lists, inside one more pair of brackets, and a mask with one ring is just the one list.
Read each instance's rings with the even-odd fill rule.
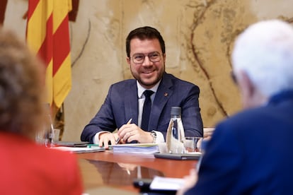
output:
[[[99,143],[105,148],[109,142],[115,144],[117,138],[122,143],[163,142],[171,107],[181,107],[185,136],[202,136],[200,89],[166,73],[165,42],[160,32],[148,26],[132,30],[126,39],[126,52],[135,79],[110,86],[102,107],[85,126],[81,141]],[[143,119],[145,90],[152,91],[149,122]],[[132,123],[126,124],[130,119]],[[113,133],[115,129],[119,131]]]

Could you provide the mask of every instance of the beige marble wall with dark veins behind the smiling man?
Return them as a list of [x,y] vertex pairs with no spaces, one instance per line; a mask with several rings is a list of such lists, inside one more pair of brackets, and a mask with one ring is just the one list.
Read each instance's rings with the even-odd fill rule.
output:
[[[241,110],[231,81],[235,37],[258,20],[292,23],[293,0],[84,0],[71,31],[72,89],[64,102],[63,140],[79,140],[112,83],[132,78],[125,37],[150,25],[166,42],[166,71],[200,86],[204,126]],[[25,37],[28,1],[9,0],[4,27]]]

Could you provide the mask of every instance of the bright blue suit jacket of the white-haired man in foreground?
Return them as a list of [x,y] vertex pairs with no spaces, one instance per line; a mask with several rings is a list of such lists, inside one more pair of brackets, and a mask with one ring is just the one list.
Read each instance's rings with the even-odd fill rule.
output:
[[219,124],[187,194],[293,194],[293,91]]

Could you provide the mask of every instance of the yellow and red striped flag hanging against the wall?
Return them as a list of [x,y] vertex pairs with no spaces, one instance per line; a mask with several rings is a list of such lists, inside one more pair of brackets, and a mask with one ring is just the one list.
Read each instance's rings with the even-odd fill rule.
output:
[[50,105],[61,107],[71,90],[68,13],[71,0],[29,0],[26,39],[46,64]]

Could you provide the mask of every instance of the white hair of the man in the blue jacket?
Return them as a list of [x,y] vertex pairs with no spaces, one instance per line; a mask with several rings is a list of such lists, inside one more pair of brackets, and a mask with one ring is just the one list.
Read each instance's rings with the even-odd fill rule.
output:
[[260,93],[270,97],[293,89],[293,28],[281,20],[249,26],[231,55],[234,71],[245,71]]

